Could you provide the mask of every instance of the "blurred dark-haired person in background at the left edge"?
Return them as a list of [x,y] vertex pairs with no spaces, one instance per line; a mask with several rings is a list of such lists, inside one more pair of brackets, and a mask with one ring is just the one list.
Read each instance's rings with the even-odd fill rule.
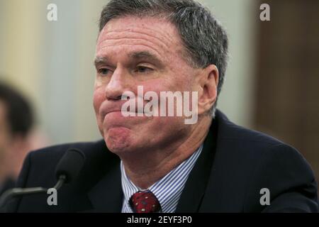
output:
[[14,187],[30,151],[33,112],[21,94],[0,83],[0,195]]

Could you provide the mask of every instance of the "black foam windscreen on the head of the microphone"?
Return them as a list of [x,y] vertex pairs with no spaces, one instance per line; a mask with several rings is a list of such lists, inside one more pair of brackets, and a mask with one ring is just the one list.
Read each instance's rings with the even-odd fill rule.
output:
[[82,170],[85,159],[82,150],[70,148],[57,164],[55,176],[59,179],[60,175],[65,175],[67,177],[65,183],[72,182]]

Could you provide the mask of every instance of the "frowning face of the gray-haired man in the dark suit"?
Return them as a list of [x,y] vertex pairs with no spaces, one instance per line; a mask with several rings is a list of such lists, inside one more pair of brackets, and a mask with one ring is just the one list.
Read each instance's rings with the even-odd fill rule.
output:
[[177,29],[164,19],[127,16],[103,28],[96,46],[94,110],[113,153],[165,148],[191,133],[193,126],[185,125],[184,117],[121,114],[126,102],[121,95],[130,91],[138,96],[138,86],[144,94],[152,91],[158,96],[198,89],[198,70],[184,60],[183,50]]

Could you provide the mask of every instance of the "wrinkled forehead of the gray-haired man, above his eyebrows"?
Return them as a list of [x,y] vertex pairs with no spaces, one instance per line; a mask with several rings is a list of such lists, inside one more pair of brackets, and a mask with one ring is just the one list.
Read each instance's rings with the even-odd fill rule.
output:
[[109,50],[147,49],[159,57],[180,56],[183,48],[177,28],[165,18],[125,16],[109,21],[99,35],[96,55]]

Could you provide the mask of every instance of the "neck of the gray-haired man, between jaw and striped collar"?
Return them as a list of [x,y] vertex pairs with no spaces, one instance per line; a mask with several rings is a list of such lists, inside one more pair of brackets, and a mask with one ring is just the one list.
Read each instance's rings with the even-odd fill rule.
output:
[[196,152],[210,126],[211,118],[202,118],[189,135],[173,144],[121,156],[126,175],[141,189],[149,188]]

